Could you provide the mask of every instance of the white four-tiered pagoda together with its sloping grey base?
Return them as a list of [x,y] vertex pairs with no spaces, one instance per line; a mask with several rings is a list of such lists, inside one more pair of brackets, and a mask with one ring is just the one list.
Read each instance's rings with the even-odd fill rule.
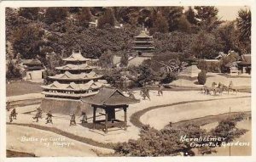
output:
[[91,64],[96,59],[84,58],[80,51],[62,60],[67,64],[56,67],[61,73],[49,76],[51,83],[42,86],[45,98],[41,106],[44,111],[68,114],[72,109],[77,111],[80,98],[95,95],[101,87],[108,86],[108,82],[94,71],[97,67]]

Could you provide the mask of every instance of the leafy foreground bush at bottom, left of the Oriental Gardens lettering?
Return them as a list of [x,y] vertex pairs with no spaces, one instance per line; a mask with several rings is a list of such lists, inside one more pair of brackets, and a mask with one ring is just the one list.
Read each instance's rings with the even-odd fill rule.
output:
[[[180,128],[165,128],[160,131],[149,126],[143,126],[138,140],[119,143],[116,154],[127,156],[174,156],[180,153],[193,153],[190,142],[181,142],[180,137],[189,138],[206,135],[200,126],[187,125]],[[195,155],[195,154],[194,154]]]

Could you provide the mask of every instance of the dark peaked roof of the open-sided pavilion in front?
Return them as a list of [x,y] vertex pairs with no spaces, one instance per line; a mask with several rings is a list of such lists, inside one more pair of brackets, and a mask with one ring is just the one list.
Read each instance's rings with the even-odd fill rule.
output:
[[96,95],[82,98],[82,101],[99,106],[116,106],[139,102],[137,99],[126,97],[122,92],[113,87],[102,87]]

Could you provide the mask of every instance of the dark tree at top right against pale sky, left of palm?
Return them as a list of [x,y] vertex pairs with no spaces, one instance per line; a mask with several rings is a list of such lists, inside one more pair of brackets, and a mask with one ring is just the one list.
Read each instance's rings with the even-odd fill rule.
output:
[[195,18],[202,30],[212,31],[222,22],[218,20],[218,8],[213,6],[195,6]]

